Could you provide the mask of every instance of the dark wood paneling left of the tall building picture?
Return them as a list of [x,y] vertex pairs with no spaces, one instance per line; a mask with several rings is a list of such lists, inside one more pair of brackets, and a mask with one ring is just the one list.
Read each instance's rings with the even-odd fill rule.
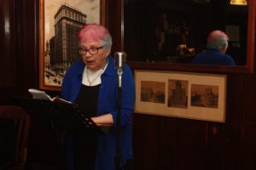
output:
[[38,83],[36,13],[34,0],[3,0],[0,3],[0,103],[10,95],[27,95]]

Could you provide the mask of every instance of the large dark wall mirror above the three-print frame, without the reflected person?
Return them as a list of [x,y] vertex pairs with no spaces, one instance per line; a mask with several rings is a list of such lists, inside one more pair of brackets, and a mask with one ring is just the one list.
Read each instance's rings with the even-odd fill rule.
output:
[[[255,0],[247,2],[236,6],[230,0],[125,0],[125,52],[130,61],[189,63],[205,49],[208,33],[218,29],[230,37],[227,54],[252,71]],[[188,50],[180,53],[181,44]]]

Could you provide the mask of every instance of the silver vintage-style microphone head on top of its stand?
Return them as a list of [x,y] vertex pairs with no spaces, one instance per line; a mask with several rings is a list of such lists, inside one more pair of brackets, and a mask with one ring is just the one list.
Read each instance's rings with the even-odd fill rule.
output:
[[123,68],[125,66],[127,54],[125,52],[115,52],[114,53],[114,66],[117,69],[117,74],[119,77],[119,88],[122,87],[122,74]]

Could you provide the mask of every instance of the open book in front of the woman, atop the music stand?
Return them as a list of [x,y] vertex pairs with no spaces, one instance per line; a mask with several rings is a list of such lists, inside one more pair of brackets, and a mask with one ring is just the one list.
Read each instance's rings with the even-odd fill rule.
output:
[[48,94],[46,94],[42,90],[30,88],[28,89],[28,92],[32,94],[33,99],[45,99],[45,100],[51,100],[53,102],[72,104],[72,102],[70,101],[61,99],[60,96],[55,96],[54,98],[51,98]]

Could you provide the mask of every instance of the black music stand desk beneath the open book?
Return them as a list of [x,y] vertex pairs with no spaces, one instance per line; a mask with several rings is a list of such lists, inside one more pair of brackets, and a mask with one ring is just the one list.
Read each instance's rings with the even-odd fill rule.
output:
[[80,127],[93,128],[102,132],[89,116],[86,116],[79,109],[79,105],[56,103],[44,99],[30,99],[23,97],[13,97],[15,105],[19,105],[25,111],[39,121],[49,122],[57,133],[66,135],[73,133]]

